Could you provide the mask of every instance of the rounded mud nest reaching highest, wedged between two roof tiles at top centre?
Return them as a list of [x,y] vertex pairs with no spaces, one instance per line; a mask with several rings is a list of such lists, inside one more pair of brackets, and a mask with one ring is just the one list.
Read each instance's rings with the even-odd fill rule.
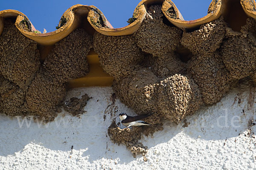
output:
[[163,23],[160,5],[150,6],[143,24],[134,33],[138,46],[154,56],[163,56],[180,46],[182,30]]

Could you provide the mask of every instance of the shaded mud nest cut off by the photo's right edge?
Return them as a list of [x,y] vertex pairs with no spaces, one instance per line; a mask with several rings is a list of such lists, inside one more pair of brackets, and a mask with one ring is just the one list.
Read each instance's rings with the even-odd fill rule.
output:
[[227,28],[227,39],[221,46],[223,62],[235,79],[250,76],[256,69],[256,21],[247,19],[241,32]]

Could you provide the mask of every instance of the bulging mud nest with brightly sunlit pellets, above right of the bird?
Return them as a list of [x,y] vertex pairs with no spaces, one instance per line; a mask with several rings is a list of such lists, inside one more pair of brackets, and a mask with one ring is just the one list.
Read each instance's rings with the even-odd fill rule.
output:
[[188,76],[168,77],[159,84],[157,104],[164,118],[179,123],[202,105],[198,85]]

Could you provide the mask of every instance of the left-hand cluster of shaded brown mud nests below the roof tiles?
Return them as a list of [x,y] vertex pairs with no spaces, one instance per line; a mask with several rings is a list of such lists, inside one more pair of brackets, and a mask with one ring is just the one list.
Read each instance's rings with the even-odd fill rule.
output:
[[[57,116],[56,106],[66,95],[66,82],[89,72],[86,55],[93,37],[78,28],[57,42],[41,63],[37,42],[23,36],[12,20],[4,23],[0,36],[0,112],[52,121]],[[86,96],[81,105],[88,99]],[[76,107],[64,108],[73,115],[81,114]]]

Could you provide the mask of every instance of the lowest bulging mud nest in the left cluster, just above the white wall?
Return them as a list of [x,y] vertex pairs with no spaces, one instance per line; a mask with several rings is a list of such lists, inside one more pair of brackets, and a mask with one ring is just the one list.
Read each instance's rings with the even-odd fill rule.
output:
[[66,89],[62,83],[54,82],[40,71],[26,94],[27,107],[39,119],[52,121],[57,116],[56,105],[63,101],[65,95]]

